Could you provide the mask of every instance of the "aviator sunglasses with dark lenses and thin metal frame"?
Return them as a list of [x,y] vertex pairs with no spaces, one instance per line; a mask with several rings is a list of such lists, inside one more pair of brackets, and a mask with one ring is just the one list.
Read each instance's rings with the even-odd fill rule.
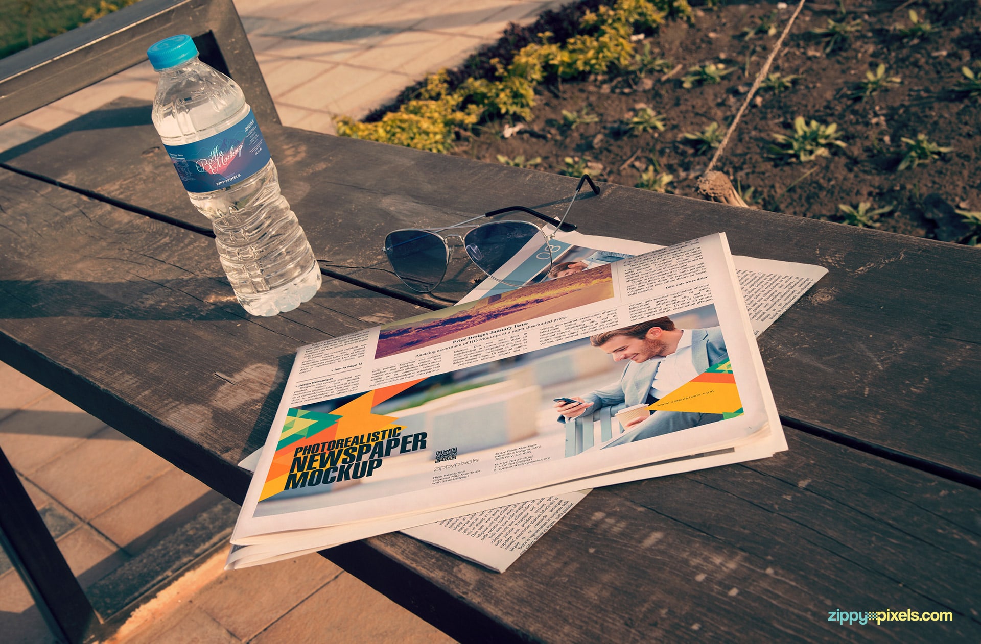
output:
[[[576,197],[579,196],[579,191],[583,189],[584,183],[589,183],[594,194],[599,194],[599,188],[596,187],[593,179],[590,178],[589,174],[583,174],[561,220],[552,219],[524,206],[511,206],[492,210],[490,213],[452,225],[437,228],[392,230],[385,238],[385,255],[391,265],[391,270],[402,280],[403,284],[412,290],[418,293],[429,293],[442,283],[442,279],[446,275],[446,269],[449,267],[449,261],[452,257],[452,250],[446,240],[455,237],[463,244],[467,257],[478,269],[509,286],[521,286],[525,283],[524,280],[510,281],[507,277],[499,277],[494,273],[531,242],[541,242],[539,243],[541,247],[539,252],[547,256],[548,267],[545,271],[550,271],[552,251],[549,242],[559,230],[571,231],[576,229],[572,223],[565,223],[565,218],[572,209]],[[473,223],[513,212],[534,215],[540,220],[550,223],[552,225],[551,232],[545,234],[544,230],[535,223],[514,220]],[[470,228],[470,230],[462,234],[455,232],[460,228]],[[446,233],[446,230],[454,232]]]

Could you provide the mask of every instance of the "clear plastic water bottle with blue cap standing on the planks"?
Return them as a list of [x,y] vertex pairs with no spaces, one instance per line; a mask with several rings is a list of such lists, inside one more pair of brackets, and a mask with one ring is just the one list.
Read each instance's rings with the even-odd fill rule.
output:
[[191,203],[215,228],[238,302],[254,316],[295,309],[320,288],[320,269],[242,90],[198,60],[190,36],[165,38],[147,55],[160,72],[153,124]]

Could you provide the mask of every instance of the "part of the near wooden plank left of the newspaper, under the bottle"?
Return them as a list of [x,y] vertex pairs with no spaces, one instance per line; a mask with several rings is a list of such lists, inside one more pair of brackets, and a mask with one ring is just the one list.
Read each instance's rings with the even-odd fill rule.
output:
[[208,471],[265,441],[296,347],[422,309],[325,279],[252,318],[204,235],[0,171],[0,356],[239,497]]

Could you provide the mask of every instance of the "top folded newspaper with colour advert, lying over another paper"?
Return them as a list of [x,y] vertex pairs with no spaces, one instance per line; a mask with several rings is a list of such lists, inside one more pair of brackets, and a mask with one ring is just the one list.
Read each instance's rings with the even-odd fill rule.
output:
[[301,347],[229,566],[782,449],[710,235]]

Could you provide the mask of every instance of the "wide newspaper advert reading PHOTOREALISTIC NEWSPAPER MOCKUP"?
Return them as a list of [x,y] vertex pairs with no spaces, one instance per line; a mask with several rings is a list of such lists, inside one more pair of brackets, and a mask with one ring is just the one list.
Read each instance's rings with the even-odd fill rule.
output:
[[[255,516],[630,449],[634,441],[739,416],[743,405],[718,324],[707,305],[289,408]],[[658,352],[668,343],[680,367],[662,365],[668,359]],[[562,399],[571,397],[584,409],[567,418]]]

